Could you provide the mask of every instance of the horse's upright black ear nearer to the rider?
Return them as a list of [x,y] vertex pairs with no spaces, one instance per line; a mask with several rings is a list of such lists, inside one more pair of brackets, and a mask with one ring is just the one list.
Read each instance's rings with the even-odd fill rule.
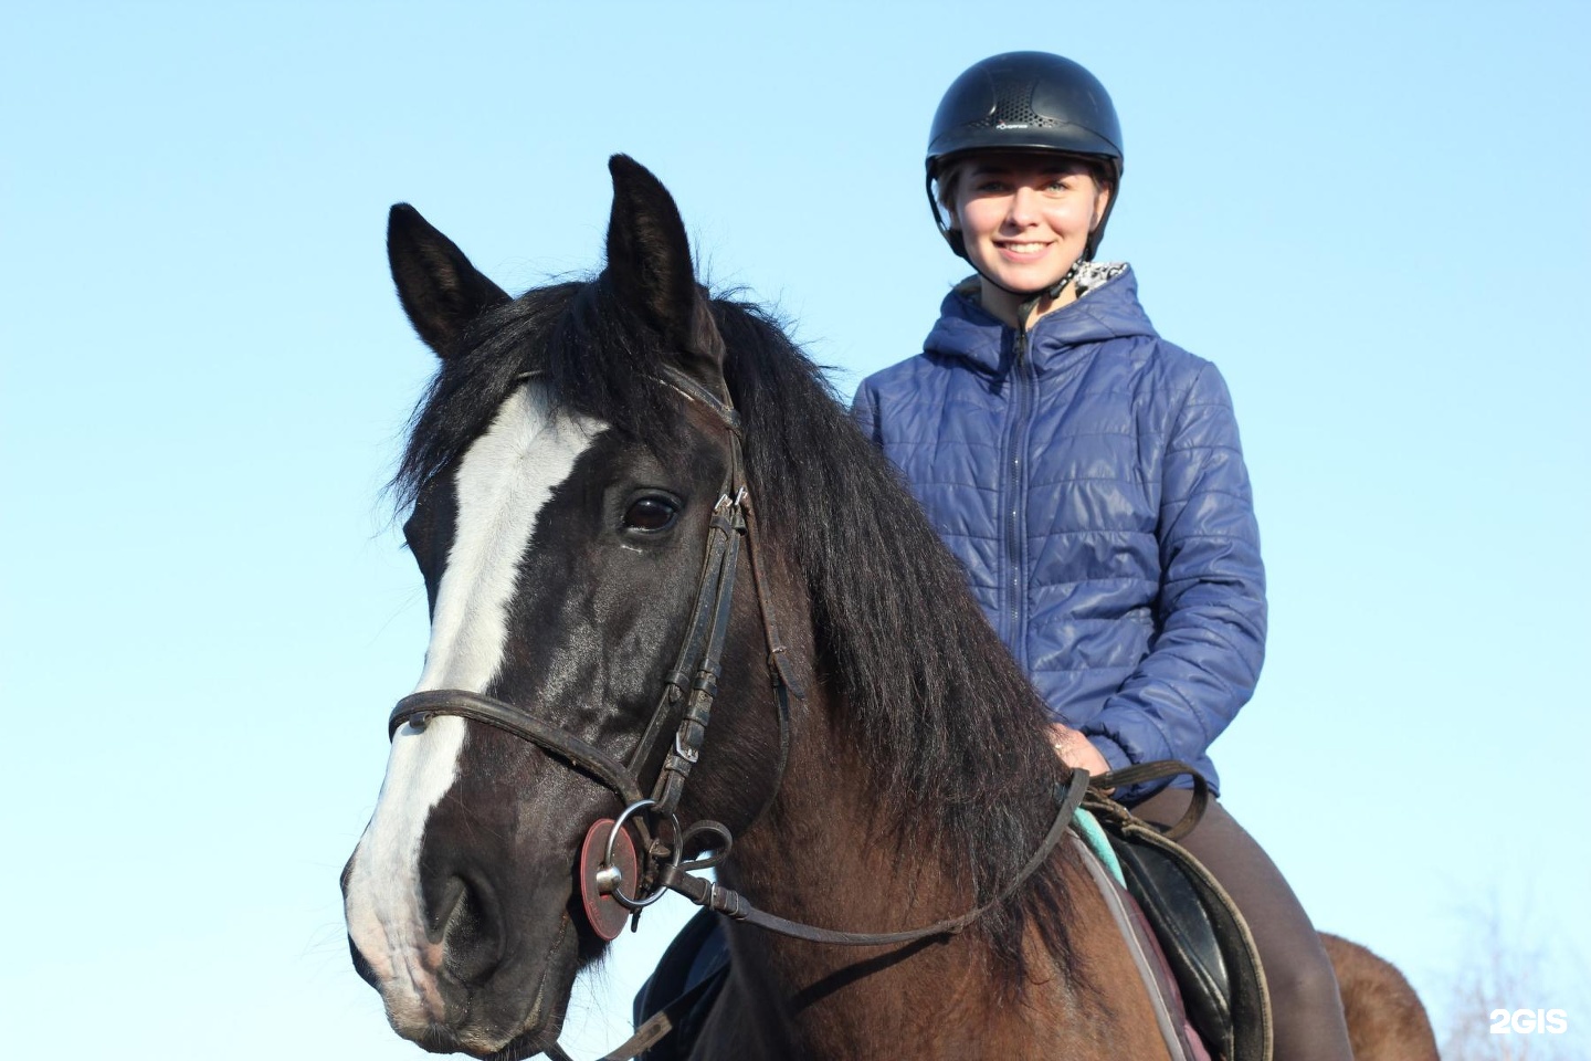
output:
[[608,277],[616,294],[662,334],[679,367],[722,391],[724,339],[697,286],[679,207],[662,181],[627,154],[608,159]]

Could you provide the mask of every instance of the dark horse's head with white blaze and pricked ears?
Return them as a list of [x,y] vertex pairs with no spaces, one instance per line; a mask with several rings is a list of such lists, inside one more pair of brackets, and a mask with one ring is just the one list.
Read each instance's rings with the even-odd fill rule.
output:
[[[606,270],[517,301],[417,212],[391,213],[399,297],[442,359],[399,474],[431,606],[418,692],[457,690],[436,695],[554,733],[527,740],[445,703],[396,716],[380,800],[344,873],[347,921],[393,1028],[433,1050],[533,1053],[601,951],[579,849],[624,805],[605,770],[633,767],[649,794],[673,748],[689,690],[668,679],[738,468],[718,404],[725,344],[678,210],[630,159],[611,169]],[[735,703],[705,759],[778,741],[757,597],[741,584],[722,649]],[[560,740],[595,751],[562,754]],[[772,759],[740,759],[703,768],[687,810],[730,826],[754,811]]]

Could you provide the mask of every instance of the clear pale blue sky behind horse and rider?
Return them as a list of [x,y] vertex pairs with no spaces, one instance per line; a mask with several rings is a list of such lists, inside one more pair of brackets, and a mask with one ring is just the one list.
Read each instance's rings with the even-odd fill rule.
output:
[[1526,969],[1484,1005],[1566,1007],[1591,1053],[1588,8],[1064,8],[8,6],[8,1051],[418,1056],[336,888],[425,644],[377,496],[431,367],[391,202],[517,291],[600,264],[633,154],[848,393],[961,275],[940,92],[1044,48],[1122,115],[1106,256],[1238,404],[1273,632],[1227,805],[1441,1031],[1488,1045],[1454,999],[1491,924]]

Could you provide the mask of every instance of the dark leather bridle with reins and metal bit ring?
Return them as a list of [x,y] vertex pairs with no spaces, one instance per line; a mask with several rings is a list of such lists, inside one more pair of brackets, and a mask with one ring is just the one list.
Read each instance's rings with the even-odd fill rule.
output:
[[[646,732],[630,754],[628,762],[620,762],[590,741],[550,722],[536,719],[511,703],[468,689],[428,689],[404,697],[393,708],[387,721],[388,738],[396,736],[403,725],[425,729],[426,722],[434,716],[458,716],[530,741],[549,752],[555,760],[587,775],[617,795],[624,803],[619,818],[598,819],[587,830],[584,853],[600,851],[600,857],[582,853],[582,861],[597,857],[593,865],[582,865],[581,881],[582,889],[593,884],[600,894],[585,894],[582,899],[585,900],[585,911],[592,927],[603,939],[614,939],[627,918],[633,923],[633,919],[640,918],[641,910],[657,902],[665,891],[679,892],[690,902],[737,921],[748,921],[813,943],[893,946],[934,935],[961,932],[991,907],[1009,899],[1048,859],[1050,853],[1061,841],[1061,837],[1064,837],[1072,813],[1082,803],[1088,786],[1087,771],[1074,770],[1071,778],[1058,786],[1058,808],[1048,834],[1045,834],[1023,869],[1007,881],[999,894],[959,916],[918,929],[902,932],[838,932],[821,929],[757,910],[733,889],[692,875],[692,870],[710,869],[722,862],[733,843],[729,827],[716,821],[703,819],[692,822],[687,829],[681,829],[678,808],[686,781],[690,778],[690,770],[700,759],[708,724],[711,722],[713,702],[718,697],[724,639],[729,633],[730,606],[735,593],[735,573],[743,546],[748,554],[757,609],[762,617],[768,678],[775,690],[780,727],[778,764],[773,773],[773,784],[762,806],[749,819],[751,824],[756,824],[762,818],[783,784],[789,759],[789,698],[794,695],[803,700],[805,692],[800,682],[791,674],[786,646],[780,636],[768,597],[767,577],[757,555],[756,517],[741,452],[740,414],[735,412],[729,401],[702,387],[689,375],[667,366],[662,372],[662,383],[671,387],[690,402],[703,406],[722,423],[729,434],[730,461],[718,503],[713,506],[713,514],[708,520],[706,547],[702,557],[702,573],[697,581],[697,598],[690,611],[689,627],[686,628],[675,665],[663,676],[657,706],[652,709]],[[684,705],[683,713],[679,711],[681,703]],[[676,716],[678,722],[673,722]],[[662,767],[659,767],[657,776],[651,784],[651,794],[643,795],[638,771],[654,754],[657,741],[662,740],[670,724],[673,724],[673,743],[663,756]],[[663,822],[668,824],[667,835],[657,827]],[[630,894],[624,891],[630,881],[625,873],[627,861],[619,851],[619,846],[628,845],[624,834],[625,824],[632,824],[641,837],[641,865],[638,870],[632,869],[628,873],[628,876],[635,876]],[[710,838],[706,845],[702,845],[710,854],[697,861],[683,861],[684,851],[698,846],[702,838]],[[603,924],[605,900],[608,910],[617,908],[619,913],[617,918],[608,919],[606,924]],[[657,1037],[662,1037],[662,1034],[667,1034],[667,1029],[657,1032]],[[641,1039],[643,1032],[638,1032],[635,1039],[624,1044],[619,1050],[643,1045]],[[558,1053],[562,1055],[562,1051]],[[616,1050],[609,1056],[630,1055]]]

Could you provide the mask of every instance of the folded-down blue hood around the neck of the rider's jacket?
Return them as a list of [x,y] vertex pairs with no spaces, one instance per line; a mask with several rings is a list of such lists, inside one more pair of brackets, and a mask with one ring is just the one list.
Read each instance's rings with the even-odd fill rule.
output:
[[[964,290],[958,286],[945,296],[939,323],[928,332],[923,350],[961,358],[990,374],[999,372],[1017,329],[994,318],[974,294],[963,294]],[[1082,344],[1123,336],[1155,336],[1155,326],[1138,302],[1138,278],[1131,267],[1090,288],[1076,302],[1041,317],[1028,332],[1028,356],[1033,367],[1044,372]]]

